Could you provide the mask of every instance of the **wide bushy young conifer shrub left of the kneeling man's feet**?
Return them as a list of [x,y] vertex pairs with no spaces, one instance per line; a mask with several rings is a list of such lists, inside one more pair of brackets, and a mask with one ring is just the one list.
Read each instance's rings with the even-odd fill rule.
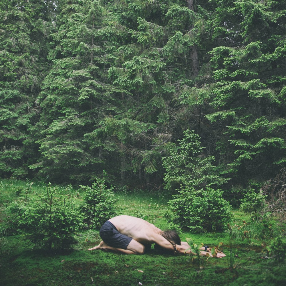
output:
[[49,183],[44,195],[29,204],[14,202],[10,210],[16,214],[18,232],[40,248],[66,249],[76,242],[74,234],[84,226],[84,216],[72,197],[58,195]]

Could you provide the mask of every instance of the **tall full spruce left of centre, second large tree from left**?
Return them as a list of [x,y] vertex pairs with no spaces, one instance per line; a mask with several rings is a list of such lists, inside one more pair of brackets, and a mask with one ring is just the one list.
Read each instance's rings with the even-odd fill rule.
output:
[[59,1],[48,56],[53,65],[37,98],[42,113],[34,133],[41,156],[29,166],[41,176],[85,182],[105,168],[102,144],[90,144],[86,134],[115,112],[121,97],[106,77],[115,49],[106,41],[106,17],[98,1]]

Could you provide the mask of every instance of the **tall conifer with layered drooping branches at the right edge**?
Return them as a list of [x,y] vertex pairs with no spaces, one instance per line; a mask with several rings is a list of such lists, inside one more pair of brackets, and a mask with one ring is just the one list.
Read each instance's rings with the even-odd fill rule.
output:
[[[285,166],[285,1],[219,1],[211,64],[217,150],[225,172],[247,184]],[[219,132],[218,132],[219,131]],[[234,183],[232,182],[232,183]]]

